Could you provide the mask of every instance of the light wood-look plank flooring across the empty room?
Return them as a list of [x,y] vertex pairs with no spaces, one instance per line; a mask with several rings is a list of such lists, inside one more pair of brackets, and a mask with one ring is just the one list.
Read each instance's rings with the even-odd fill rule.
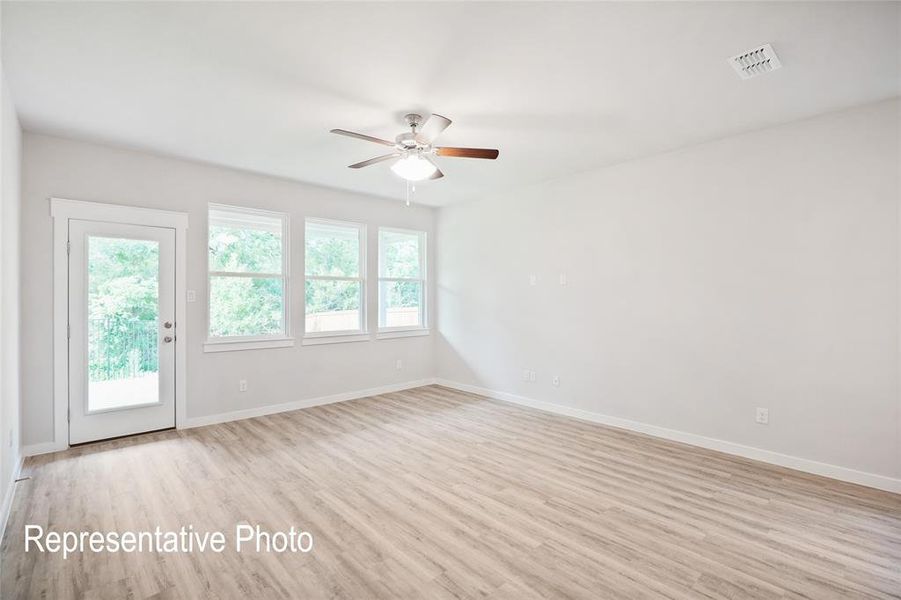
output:
[[[838,442],[837,442],[838,443]],[[18,598],[899,598],[901,495],[429,386],[30,458]],[[23,551],[269,530],[309,554]]]

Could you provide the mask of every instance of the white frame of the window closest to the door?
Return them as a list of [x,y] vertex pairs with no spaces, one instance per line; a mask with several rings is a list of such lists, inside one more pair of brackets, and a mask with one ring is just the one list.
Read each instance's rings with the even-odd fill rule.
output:
[[[266,217],[279,219],[282,223],[282,272],[281,273],[247,273],[243,271],[212,271],[210,270],[210,212],[221,210],[223,212],[231,212],[236,215],[246,215],[247,217]],[[204,352],[229,352],[233,350],[256,350],[262,348],[287,348],[294,345],[294,338],[291,336],[291,288],[290,288],[290,216],[286,213],[263,210],[260,208],[248,208],[246,206],[233,206],[229,204],[207,205],[207,311],[206,311],[206,342],[203,344]],[[271,335],[235,335],[235,336],[216,336],[210,335],[210,313],[212,299],[212,279],[213,277],[249,277],[254,279],[281,279],[282,280],[282,319],[284,330],[281,333]]]

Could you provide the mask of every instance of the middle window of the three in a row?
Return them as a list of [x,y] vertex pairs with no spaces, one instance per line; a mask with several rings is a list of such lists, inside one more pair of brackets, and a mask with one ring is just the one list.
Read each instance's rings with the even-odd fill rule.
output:
[[365,240],[364,225],[307,219],[304,331],[308,337],[365,331]]

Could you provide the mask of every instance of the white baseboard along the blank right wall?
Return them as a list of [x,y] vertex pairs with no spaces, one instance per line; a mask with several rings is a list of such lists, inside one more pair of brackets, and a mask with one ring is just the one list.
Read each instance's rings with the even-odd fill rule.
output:
[[457,383],[456,381],[448,381],[446,379],[438,378],[435,379],[435,383],[463,392],[479,394],[481,396],[494,398],[495,400],[503,400],[504,402],[511,402],[514,404],[529,406],[531,408],[537,408],[539,410],[552,412],[559,415],[565,415],[567,417],[582,419],[583,421],[591,421],[593,423],[600,423],[602,425],[609,425],[611,427],[618,427],[620,429],[637,431],[667,440],[682,442],[683,444],[699,446],[701,448],[707,448],[709,450],[717,450],[719,452],[725,452],[726,454],[733,454],[735,456],[750,458],[752,460],[759,460],[761,462],[778,465],[780,467],[787,467],[789,469],[795,469],[797,471],[804,471],[805,473],[812,473],[814,475],[822,475],[823,477],[830,477],[832,479],[838,479],[840,481],[857,483],[859,485],[865,485],[868,487],[885,490],[887,492],[901,493],[901,479],[887,477],[885,475],[877,475],[875,473],[857,471],[855,469],[849,469],[847,467],[839,467],[837,465],[821,463],[815,460],[799,458],[797,456],[790,456],[788,454],[780,454],[779,452],[773,452],[770,450],[763,450],[761,448],[754,448],[752,446],[736,444],[734,442],[718,440],[716,438],[678,431],[676,429],[667,429],[665,427],[649,425],[640,421],[611,417],[601,413],[582,410],[579,408],[571,408],[569,406],[563,406],[560,404],[554,404],[552,402],[534,400],[532,398],[510,394],[508,392],[499,392],[475,385]]

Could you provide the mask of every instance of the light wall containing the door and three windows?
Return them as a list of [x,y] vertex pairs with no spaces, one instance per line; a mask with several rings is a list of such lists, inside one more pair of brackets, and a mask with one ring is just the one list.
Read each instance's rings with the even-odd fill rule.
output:
[[[51,219],[49,198],[62,197],[189,214],[187,411],[199,419],[238,410],[295,402],[432,377],[431,337],[294,348],[204,353],[206,337],[207,204],[219,202],[291,215],[292,321],[303,323],[303,223],[307,216],[365,222],[369,226],[369,275],[377,273],[378,226],[427,231],[434,211],[398,201],[339,192],[140,152],[44,135],[25,134],[22,235],[22,440],[53,441]],[[375,286],[370,286],[370,322]],[[430,294],[434,297],[434,294]],[[395,360],[404,368],[395,370]],[[247,379],[249,390],[238,391]]]

